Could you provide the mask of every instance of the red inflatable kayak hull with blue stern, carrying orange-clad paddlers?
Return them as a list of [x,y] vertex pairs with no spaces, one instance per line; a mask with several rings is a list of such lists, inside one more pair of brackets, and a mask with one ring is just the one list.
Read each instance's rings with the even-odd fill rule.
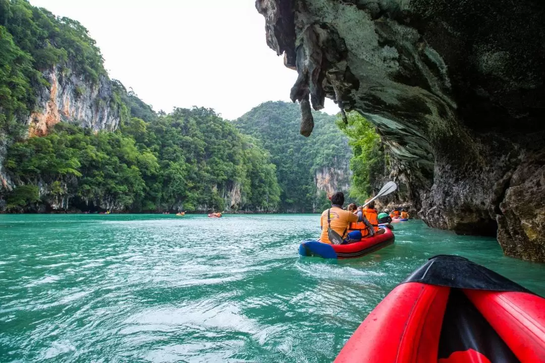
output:
[[324,259],[350,259],[362,257],[386,247],[395,241],[393,232],[386,229],[381,235],[361,239],[350,244],[329,244],[314,240],[303,241],[299,245],[301,256],[318,256]]

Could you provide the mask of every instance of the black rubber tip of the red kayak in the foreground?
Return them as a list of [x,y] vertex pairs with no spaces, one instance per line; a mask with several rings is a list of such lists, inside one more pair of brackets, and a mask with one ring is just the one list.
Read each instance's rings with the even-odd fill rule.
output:
[[531,292],[504,276],[460,256],[438,255],[431,257],[409,275],[406,282],[423,282],[429,285],[468,288],[471,290]]

